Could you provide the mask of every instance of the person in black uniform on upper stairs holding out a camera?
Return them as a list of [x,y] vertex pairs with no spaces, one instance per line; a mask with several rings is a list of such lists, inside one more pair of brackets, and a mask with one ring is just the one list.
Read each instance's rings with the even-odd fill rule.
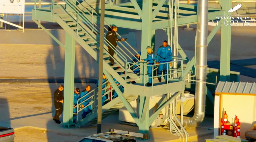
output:
[[116,41],[124,41],[123,38],[122,39],[117,38],[116,31],[117,31],[117,27],[113,26],[112,31],[108,32],[108,34],[106,35],[106,39],[109,41],[109,43],[111,43],[114,46],[114,47],[112,47],[113,49],[110,46],[108,46],[111,66],[114,65],[114,59],[112,57],[115,54],[115,50],[116,50],[116,46],[117,46]]

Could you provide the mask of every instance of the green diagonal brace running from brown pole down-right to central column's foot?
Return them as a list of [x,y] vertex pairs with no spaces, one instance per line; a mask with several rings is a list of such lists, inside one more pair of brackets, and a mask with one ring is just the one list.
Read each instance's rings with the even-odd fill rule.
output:
[[125,107],[127,108],[127,110],[130,112],[130,114],[132,115],[135,123],[139,126],[139,119],[138,116],[136,115],[136,113],[134,112],[131,104],[126,100],[124,94],[121,92],[121,90],[118,88],[118,86],[116,85],[115,81],[113,80],[112,76],[109,74],[109,72],[107,72],[105,69],[103,69],[103,73],[106,75],[107,79],[109,80],[109,82],[111,83],[111,86],[114,88],[115,92],[118,94],[118,97],[120,97],[120,100],[124,103]]

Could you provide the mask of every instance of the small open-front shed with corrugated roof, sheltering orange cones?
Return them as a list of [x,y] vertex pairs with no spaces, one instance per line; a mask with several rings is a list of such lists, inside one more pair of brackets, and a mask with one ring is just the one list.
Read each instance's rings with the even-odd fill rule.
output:
[[[214,137],[221,135],[221,118],[228,114],[228,123],[235,126],[238,116],[241,123],[241,138],[256,123],[256,83],[219,82],[215,91]],[[234,130],[227,135],[233,136]]]

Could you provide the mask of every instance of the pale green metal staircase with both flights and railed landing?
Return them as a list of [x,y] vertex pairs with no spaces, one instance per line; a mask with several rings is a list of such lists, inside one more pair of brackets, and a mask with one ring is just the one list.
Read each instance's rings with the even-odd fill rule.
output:
[[[51,7],[44,7],[40,9],[32,10],[35,16],[33,16],[33,20],[36,22],[36,20],[41,19],[47,19],[48,16],[51,15],[51,22],[58,23],[63,29],[68,32],[69,35],[71,35],[96,61],[99,60],[99,31],[100,27],[98,25],[99,23],[99,15],[97,14],[96,10],[94,10],[90,5],[84,6],[86,3],[83,3],[81,5],[78,1],[77,3],[80,5],[77,6],[77,3],[71,2],[69,0],[62,0],[65,2],[65,5],[59,5],[55,4],[54,1],[52,1]],[[82,8],[80,8],[82,6]],[[39,19],[37,19],[37,14],[44,15],[41,16]],[[49,17],[48,17],[49,18]],[[106,23],[105,23],[106,24]],[[106,24],[108,25],[108,24]],[[109,26],[109,25],[108,25]],[[106,32],[108,31],[107,28],[105,28]],[[46,30],[45,30],[46,31]],[[47,32],[47,31],[46,31]],[[106,34],[105,32],[105,34]],[[119,37],[121,37],[119,34],[117,34]],[[184,90],[183,85],[183,61],[184,59],[178,60],[177,62],[181,62],[181,68],[178,71],[177,74],[180,74],[180,78],[172,78],[172,73],[167,73],[169,83],[165,84],[164,82],[159,83],[157,79],[155,79],[153,82],[155,85],[152,87],[145,86],[146,80],[147,80],[147,73],[146,68],[147,64],[143,63],[143,73],[142,74],[135,74],[133,70],[130,68],[133,65],[137,65],[137,68],[141,68],[138,62],[134,62],[132,60],[132,57],[134,57],[135,54],[138,54],[137,51],[135,51],[126,41],[124,41],[126,45],[122,44],[120,42],[121,46],[117,46],[116,55],[114,55],[113,59],[115,61],[114,66],[110,66],[110,54],[108,53],[108,46],[110,48],[113,48],[113,45],[107,42],[107,39],[104,37],[104,61],[103,61],[103,68],[104,71],[110,74],[111,80],[116,79],[120,84],[124,87],[123,94],[120,92],[119,88],[115,88],[115,92],[118,93],[118,97],[113,98],[113,87],[107,86],[105,88],[105,94],[109,95],[110,92],[112,96],[110,102],[105,102],[105,104],[102,106],[102,117],[103,119],[120,108],[127,105],[127,102],[130,103],[131,101],[135,100],[139,95],[140,96],[154,96],[154,95],[160,95],[160,94],[167,94],[170,92],[178,92],[181,90]],[[68,47],[66,47],[68,48]],[[137,69],[135,68],[135,69]],[[135,70],[134,69],[134,70]],[[157,68],[153,67],[153,70],[156,70]],[[173,69],[170,69],[169,71],[172,71]],[[153,77],[154,79],[155,77]],[[143,83],[137,83],[137,84],[130,84],[130,82],[140,82],[143,80]],[[106,82],[108,83],[108,82]],[[111,89],[107,89],[111,87]],[[116,86],[115,86],[116,87]],[[121,94],[120,94],[121,93]],[[98,88],[92,90],[89,92],[86,96],[89,98],[85,101],[89,101],[90,103],[87,106],[84,106],[84,108],[81,108],[81,102],[78,103],[77,106],[74,107],[77,109],[77,120],[78,120],[78,127],[81,127],[88,123],[95,123],[97,121],[97,110],[98,110]],[[120,97],[121,96],[121,97]],[[123,96],[125,99],[123,99]],[[81,100],[82,98],[80,98]],[[125,101],[125,103],[124,103]],[[79,101],[78,101],[79,102]],[[126,104],[126,105],[125,105]],[[86,118],[81,119],[82,111],[83,109],[91,106],[92,112],[86,116]]]

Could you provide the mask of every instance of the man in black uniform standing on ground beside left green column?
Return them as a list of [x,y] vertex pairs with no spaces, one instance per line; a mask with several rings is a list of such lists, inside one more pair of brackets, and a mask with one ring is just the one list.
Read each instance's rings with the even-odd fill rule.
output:
[[60,115],[63,112],[63,89],[64,86],[60,85],[60,87],[54,92],[54,106],[56,109],[56,113],[55,116],[53,118],[53,120],[57,123],[57,124],[61,124],[60,122]]

